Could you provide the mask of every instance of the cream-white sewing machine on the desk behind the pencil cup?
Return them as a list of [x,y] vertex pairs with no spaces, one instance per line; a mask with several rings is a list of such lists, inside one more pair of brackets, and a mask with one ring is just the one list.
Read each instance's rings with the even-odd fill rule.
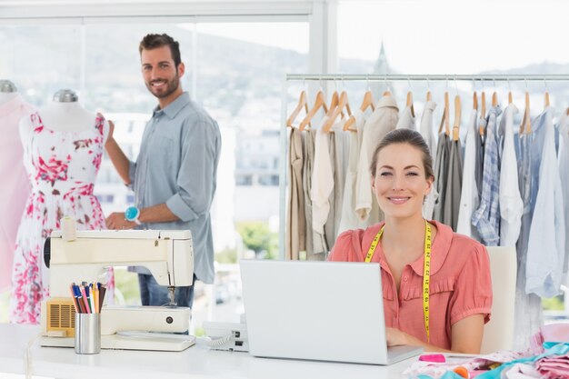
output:
[[[45,243],[50,298],[42,303],[43,346],[74,346],[72,282],[97,282],[110,266],[142,265],[170,289],[191,285],[194,250],[188,230],[54,231]],[[190,308],[112,306],[101,310],[101,348],[182,351],[195,344],[188,330]],[[148,333],[152,332],[152,333]],[[161,333],[162,332],[162,333]]]

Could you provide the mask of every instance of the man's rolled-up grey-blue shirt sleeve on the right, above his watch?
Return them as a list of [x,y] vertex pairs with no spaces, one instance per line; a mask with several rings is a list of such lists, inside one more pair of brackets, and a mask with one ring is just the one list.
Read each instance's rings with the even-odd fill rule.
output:
[[214,200],[221,138],[215,121],[200,118],[185,126],[177,192],[165,204],[180,220],[187,222],[207,214]]

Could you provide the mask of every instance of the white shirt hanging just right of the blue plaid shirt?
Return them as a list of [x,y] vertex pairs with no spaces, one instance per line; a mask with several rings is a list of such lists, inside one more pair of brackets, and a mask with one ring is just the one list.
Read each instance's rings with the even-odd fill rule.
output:
[[500,164],[500,246],[515,246],[522,227],[524,202],[520,194],[517,175],[517,158],[514,146],[514,104],[505,107],[498,128],[500,146],[503,147]]

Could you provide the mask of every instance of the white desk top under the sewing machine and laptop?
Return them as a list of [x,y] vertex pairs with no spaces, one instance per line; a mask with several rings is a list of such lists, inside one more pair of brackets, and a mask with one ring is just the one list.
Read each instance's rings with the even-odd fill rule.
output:
[[[25,347],[36,334],[39,326],[0,324],[0,372],[25,373]],[[102,350],[101,354],[79,355],[74,349],[41,347],[36,341],[31,354],[31,374],[62,379],[380,379],[403,377],[401,373],[416,359],[375,366],[255,358],[248,353],[213,351],[200,342],[181,353]]]

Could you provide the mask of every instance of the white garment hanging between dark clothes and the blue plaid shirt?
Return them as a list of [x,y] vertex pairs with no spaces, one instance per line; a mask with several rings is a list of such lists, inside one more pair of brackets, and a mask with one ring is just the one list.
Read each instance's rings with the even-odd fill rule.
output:
[[[474,178],[476,165],[476,138],[479,138],[478,111],[473,109],[468,125],[466,127],[466,139],[464,141],[464,173],[463,187],[460,194],[460,206],[458,210],[458,224],[456,225],[456,233],[468,235],[477,241],[480,236],[474,225],[470,222],[475,209],[478,209],[480,197],[478,197],[478,188],[476,187],[476,179]],[[517,167],[516,167],[517,170]],[[517,185],[517,182],[516,182]]]

